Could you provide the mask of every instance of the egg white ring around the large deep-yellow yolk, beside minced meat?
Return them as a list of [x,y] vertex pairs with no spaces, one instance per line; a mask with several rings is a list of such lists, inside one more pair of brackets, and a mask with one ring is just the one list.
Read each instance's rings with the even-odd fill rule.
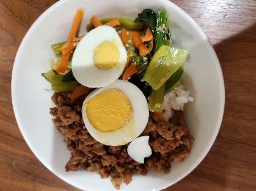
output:
[[[103,92],[107,89],[119,89],[122,91],[123,94],[125,94],[125,96],[130,100],[131,107],[133,109],[133,114],[128,123],[126,123],[126,125],[120,130],[111,133],[104,133],[93,128],[86,114],[87,102],[89,102],[89,100],[97,94],[100,94],[100,92]],[[139,136],[146,127],[148,122],[148,115],[149,111],[147,99],[145,98],[142,91],[137,88],[137,86],[124,80],[117,80],[108,86],[95,89],[94,91],[90,92],[82,105],[82,119],[84,120],[84,124],[86,125],[87,130],[94,139],[105,145],[125,145],[128,142],[136,139],[136,137]]]

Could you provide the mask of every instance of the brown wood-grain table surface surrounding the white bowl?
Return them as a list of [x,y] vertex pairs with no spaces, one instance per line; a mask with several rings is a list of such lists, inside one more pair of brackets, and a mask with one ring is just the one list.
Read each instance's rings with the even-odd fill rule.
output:
[[[20,43],[54,0],[0,1],[0,190],[79,190],[57,178],[27,146],[12,108]],[[172,190],[256,190],[256,1],[172,0],[208,36],[221,63],[225,110],[208,155]]]

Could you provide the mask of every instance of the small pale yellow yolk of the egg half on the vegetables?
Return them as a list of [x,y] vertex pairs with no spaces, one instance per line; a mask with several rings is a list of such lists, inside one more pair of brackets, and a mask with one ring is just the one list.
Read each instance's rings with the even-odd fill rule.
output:
[[111,69],[117,64],[120,54],[114,42],[105,40],[93,49],[93,63],[98,69]]

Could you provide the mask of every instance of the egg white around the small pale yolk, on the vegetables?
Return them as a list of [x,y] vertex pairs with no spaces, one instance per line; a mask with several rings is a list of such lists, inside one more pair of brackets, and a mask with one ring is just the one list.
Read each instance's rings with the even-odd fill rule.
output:
[[[114,68],[101,70],[93,63],[93,49],[105,40],[116,42],[120,57]],[[87,33],[79,42],[73,54],[71,66],[79,83],[89,88],[100,88],[115,82],[120,77],[125,69],[126,59],[125,47],[115,29],[100,26]]]

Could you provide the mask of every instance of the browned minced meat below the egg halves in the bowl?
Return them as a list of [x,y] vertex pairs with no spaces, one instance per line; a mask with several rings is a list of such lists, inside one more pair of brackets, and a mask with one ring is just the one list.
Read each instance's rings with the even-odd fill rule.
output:
[[54,93],[52,100],[56,107],[50,108],[56,129],[64,134],[71,158],[66,171],[84,167],[87,171],[98,172],[101,178],[111,177],[119,189],[123,182],[129,184],[134,173],[146,175],[147,170],[170,172],[170,162],[183,161],[189,155],[193,137],[189,134],[182,111],[175,111],[173,123],[159,121],[150,112],[145,130],[141,136],[149,135],[152,155],[144,164],[134,161],[127,153],[128,144],[108,146],[93,139],[84,126],[81,117],[81,100],[71,101],[68,94]]

